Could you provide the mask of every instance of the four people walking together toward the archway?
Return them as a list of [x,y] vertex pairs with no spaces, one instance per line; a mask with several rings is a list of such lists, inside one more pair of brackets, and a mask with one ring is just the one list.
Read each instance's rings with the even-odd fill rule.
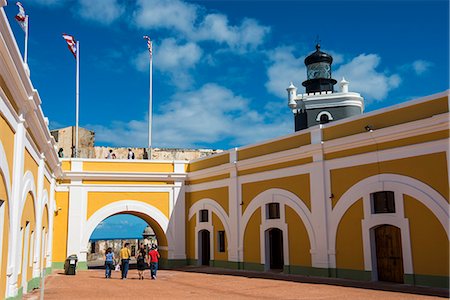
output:
[[[119,256],[120,256],[120,270],[122,272],[122,279],[126,279],[131,259],[130,243],[124,244],[123,248],[120,249]],[[156,272],[158,271],[159,258],[160,255],[158,252],[158,247],[156,245],[153,245],[150,251],[147,253],[144,244],[141,244],[136,254],[139,280],[144,279],[144,271],[145,269],[147,269],[147,266],[150,266],[151,279],[156,279]],[[105,253],[106,278],[111,278],[111,271],[115,268],[115,263],[116,260],[114,258],[114,252],[112,251],[112,248],[109,247],[108,249],[106,249]]]

